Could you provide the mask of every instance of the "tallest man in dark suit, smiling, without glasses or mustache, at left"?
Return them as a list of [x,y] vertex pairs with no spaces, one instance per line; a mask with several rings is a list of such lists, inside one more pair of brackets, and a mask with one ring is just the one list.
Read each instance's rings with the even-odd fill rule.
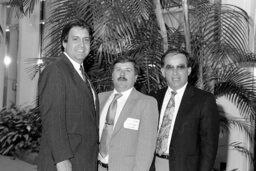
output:
[[64,26],[64,52],[40,75],[39,171],[97,170],[98,99],[82,67],[90,51],[89,30],[80,20]]

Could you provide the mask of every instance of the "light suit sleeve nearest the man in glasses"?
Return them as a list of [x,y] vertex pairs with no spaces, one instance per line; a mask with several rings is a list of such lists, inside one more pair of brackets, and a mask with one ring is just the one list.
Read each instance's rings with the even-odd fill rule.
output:
[[155,99],[144,101],[139,127],[137,152],[133,171],[148,171],[150,169],[156,147],[158,110]]

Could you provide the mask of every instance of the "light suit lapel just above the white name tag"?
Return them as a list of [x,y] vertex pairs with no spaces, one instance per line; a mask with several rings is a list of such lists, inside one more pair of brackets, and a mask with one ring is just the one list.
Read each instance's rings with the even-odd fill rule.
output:
[[129,95],[120,115],[116,122],[112,137],[117,134],[117,132],[123,127],[124,122],[131,114],[131,109],[136,105],[136,99],[138,97],[138,92],[135,88],[133,88],[131,94]]

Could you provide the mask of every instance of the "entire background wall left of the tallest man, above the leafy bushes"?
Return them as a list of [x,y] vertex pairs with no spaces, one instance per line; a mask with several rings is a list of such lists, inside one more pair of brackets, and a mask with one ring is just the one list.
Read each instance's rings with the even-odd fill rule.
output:
[[[39,3],[30,17],[20,19],[0,5],[0,16],[4,31],[0,39],[0,109],[12,102],[21,107],[35,105],[38,76],[32,80],[29,70],[35,62],[29,61],[39,55]],[[6,26],[10,26],[9,33]],[[6,55],[12,60],[8,67],[4,65]]]

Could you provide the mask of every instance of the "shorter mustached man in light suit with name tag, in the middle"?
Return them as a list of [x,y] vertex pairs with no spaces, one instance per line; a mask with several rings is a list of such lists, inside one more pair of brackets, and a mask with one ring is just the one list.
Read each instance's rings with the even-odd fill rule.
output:
[[[148,171],[156,145],[158,111],[154,98],[138,92],[133,86],[138,76],[138,65],[130,58],[119,57],[113,64],[114,90],[99,94],[100,152],[99,171]],[[107,121],[114,95],[117,108],[113,124]],[[108,150],[103,153],[104,130],[112,127]]]

